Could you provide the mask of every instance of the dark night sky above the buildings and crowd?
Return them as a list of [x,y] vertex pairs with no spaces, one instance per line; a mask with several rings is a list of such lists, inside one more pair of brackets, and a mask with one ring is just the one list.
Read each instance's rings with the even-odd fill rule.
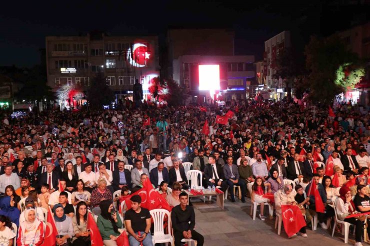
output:
[[102,30],[111,35],[154,34],[164,40],[171,26],[232,28],[235,54],[252,54],[258,60],[263,42],[283,30],[290,30],[292,42],[302,48],[310,35],[325,36],[345,29],[368,20],[370,12],[369,0],[236,2],[8,0],[1,2],[0,66],[38,64],[38,49],[44,48],[47,35]]

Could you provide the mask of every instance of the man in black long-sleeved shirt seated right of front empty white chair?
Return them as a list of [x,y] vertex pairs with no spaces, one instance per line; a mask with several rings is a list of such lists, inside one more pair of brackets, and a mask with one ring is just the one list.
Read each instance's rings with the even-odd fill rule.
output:
[[187,205],[187,194],[182,192],[178,197],[180,204],[175,206],[171,212],[174,246],[181,246],[182,239],[193,239],[197,246],[203,246],[203,236],[194,231],[195,213],[194,209]]

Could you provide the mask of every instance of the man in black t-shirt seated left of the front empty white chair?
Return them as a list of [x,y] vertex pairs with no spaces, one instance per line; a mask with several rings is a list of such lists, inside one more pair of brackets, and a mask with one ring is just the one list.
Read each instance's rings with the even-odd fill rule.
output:
[[149,210],[141,208],[141,197],[134,195],[130,198],[132,208],[124,214],[126,230],[129,234],[129,245],[153,246],[149,233],[151,220]]

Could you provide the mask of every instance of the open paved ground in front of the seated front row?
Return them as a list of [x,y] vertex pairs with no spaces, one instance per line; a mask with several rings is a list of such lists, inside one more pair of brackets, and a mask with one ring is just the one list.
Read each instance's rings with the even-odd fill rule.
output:
[[[200,200],[192,200],[195,208],[195,230],[204,236],[205,246],[342,246],[344,237],[335,233],[331,238],[331,229],[322,230],[317,226],[317,231],[307,229],[308,238],[300,236],[288,239],[283,228],[280,236],[274,230],[273,220],[261,221],[250,216],[250,199],[241,203],[236,199],[236,204],[225,201],[224,211],[221,211],[215,201],[204,204]],[[257,214],[259,209],[257,210]],[[266,212],[268,209],[266,207]],[[267,215],[267,214],[265,214]],[[330,232],[330,233],[329,233]],[[354,245],[354,238],[349,236],[348,245]],[[363,243],[365,246],[366,244]]]

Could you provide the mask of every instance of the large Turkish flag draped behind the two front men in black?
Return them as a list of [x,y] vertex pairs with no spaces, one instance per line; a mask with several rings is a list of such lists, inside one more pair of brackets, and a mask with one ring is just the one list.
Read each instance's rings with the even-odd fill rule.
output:
[[127,209],[131,208],[131,200],[130,198],[133,195],[139,195],[141,197],[141,207],[153,210],[153,209],[165,209],[171,211],[167,201],[163,199],[163,197],[154,190],[153,186],[150,183],[149,179],[146,179],[145,182],[142,184],[142,188],[135,193],[131,194],[129,197],[125,199],[125,204]]

